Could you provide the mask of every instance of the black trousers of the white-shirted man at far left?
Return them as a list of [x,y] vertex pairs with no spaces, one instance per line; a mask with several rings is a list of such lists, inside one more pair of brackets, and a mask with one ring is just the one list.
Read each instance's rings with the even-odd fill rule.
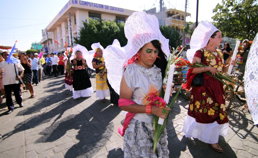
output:
[[20,84],[11,84],[11,85],[4,85],[4,91],[6,95],[6,105],[8,106],[9,110],[14,110],[13,99],[12,99],[12,91],[15,96],[16,103],[21,105],[22,98],[21,98],[21,86]]

